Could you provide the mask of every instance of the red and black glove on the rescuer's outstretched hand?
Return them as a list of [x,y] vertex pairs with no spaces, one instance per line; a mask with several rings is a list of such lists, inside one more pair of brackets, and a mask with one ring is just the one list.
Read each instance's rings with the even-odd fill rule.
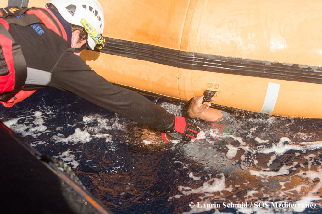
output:
[[175,124],[172,131],[161,131],[162,138],[169,142],[166,138],[166,134],[169,134],[171,137],[184,140],[191,141],[191,139],[195,139],[200,132],[200,129],[196,124],[191,122],[185,117],[175,117]]

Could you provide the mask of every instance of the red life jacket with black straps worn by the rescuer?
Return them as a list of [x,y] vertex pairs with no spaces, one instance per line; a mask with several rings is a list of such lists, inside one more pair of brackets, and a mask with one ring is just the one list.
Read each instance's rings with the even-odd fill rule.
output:
[[30,26],[43,23],[67,41],[67,34],[56,16],[48,9],[10,6],[0,9],[0,103],[12,107],[36,90],[23,90],[27,65],[21,47],[14,41],[9,24]]

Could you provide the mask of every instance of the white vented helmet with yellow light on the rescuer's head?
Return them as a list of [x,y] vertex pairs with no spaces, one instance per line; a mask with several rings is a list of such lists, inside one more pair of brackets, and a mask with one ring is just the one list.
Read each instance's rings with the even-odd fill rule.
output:
[[[81,23],[81,20],[86,20],[91,27],[95,28],[94,30],[96,30],[98,34],[103,33],[104,13],[97,0],[51,0],[46,4],[46,7],[48,7],[49,3],[53,4],[62,15],[62,18],[70,24],[84,27],[84,24],[82,24],[84,22]],[[88,30],[86,31],[89,33]],[[91,34],[88,35],[87,43],[93,50],[98,43],[98,39],[95,39],[93,33]]]

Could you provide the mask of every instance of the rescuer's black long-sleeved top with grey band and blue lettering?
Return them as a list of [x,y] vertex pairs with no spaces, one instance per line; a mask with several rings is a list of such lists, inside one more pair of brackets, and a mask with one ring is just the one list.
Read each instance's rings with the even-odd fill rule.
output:
[[[70,25],[64,20],[61,22],[70,41]],[[68,41],[44,24],[25,27],[10,24],[9,32],[20,44],[27,63],[24,90],[54,87],[75,93],[136,122],[166,131],[174,127],[174,115],[137,92],[113,85],[99,76],[72,52]]]

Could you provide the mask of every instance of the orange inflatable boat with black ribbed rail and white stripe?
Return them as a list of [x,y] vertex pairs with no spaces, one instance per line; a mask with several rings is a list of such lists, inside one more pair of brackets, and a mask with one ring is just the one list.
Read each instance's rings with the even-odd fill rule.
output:
[[322,2],[99,2],[107,46],[81,57],[108,81],[180,101],[213,90],[214,107],[322,118]]

